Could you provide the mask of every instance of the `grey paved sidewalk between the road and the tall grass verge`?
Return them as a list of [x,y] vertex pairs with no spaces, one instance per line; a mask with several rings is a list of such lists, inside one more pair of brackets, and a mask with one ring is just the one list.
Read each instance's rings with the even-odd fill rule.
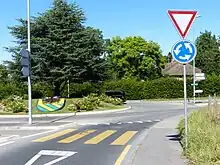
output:
[[154,125],[137,149],[132,165],[186,165],[187,160],[181,159],[181,145],[174,137],[182,116],[171,117]]

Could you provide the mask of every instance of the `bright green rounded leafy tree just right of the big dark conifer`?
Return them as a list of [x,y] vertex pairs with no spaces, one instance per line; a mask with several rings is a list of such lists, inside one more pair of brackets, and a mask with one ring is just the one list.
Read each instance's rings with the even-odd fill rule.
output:
[[118,78],[157,78],[161,76],[160,46],[139,36],[113,37],[108,46],[111,72]]

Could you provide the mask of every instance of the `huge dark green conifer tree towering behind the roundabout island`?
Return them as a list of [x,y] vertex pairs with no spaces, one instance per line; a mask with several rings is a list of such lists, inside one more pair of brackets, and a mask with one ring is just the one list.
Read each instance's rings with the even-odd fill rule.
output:
[[[17,46],[11,67],[18,65],[18,49],[27,47],[27,21],[10,27]],[[33,79],[51,84],[57,95],[68,80],[102,80],[105,75],[102,32],[86,27],[82,9],[65,0],[54,0],[52,7],[31,20],[31,66]],[[19,66],[17,67],[19,68]]]

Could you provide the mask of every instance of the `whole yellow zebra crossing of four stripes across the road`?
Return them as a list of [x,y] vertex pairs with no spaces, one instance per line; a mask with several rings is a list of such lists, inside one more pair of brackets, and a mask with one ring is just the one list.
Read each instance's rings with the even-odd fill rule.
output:
[[[39,139],[33,140],[32,142],[47,142],[53,139],[57,140],[57,143],[60,144],[70,144],[72,142],[75,142],[77,140],[86,138],[88,135],[91,135],[89,139],[87,139],[84,144],[87,145],[94,145],[99,144],[102,141],[106,140],[107,138],[110,138],[112,135],[115,135],[118,130],[105,130],[102,132],[96,133],[97,130],[84,130],[81,132],[75,132],[76,129],[67,129],[60,132],[56,132],[54,134],[41,137]],[[129,143],[129,141],[137,134],[138,131],[126,131],[123,133],[119,133],[117,135],[116,139],[113,139],[110,145],[126,145]],[[73,134],[74,133],[74,134]],[[65,136],[65,137],[64,137]]]

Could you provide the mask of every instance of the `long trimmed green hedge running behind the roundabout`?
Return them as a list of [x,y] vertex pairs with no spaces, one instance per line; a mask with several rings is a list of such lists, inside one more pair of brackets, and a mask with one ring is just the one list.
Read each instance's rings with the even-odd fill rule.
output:
[[[192,97],[192,80],[187,80],[187,96]],[[202,89],[201,96],[220,95],[220,76],[207,76],[206,80],[199,82],[196,89]],[[14,94],[27,97],[27,85],[0,83],[0,99]],[[106,90],[123,90],[128,100],[158,99],[158,98],[183,98],[183,81],[174,78],[160,78],[151,81],[119,80],[104,83],[70,84],[70,97],[79,98],[91,93],[101,94]],[[50,96],[51,90],[47,84],[36,83],[32,86],[32,98]],[[67,86],[62,91],[62,96],[67,97]]]

